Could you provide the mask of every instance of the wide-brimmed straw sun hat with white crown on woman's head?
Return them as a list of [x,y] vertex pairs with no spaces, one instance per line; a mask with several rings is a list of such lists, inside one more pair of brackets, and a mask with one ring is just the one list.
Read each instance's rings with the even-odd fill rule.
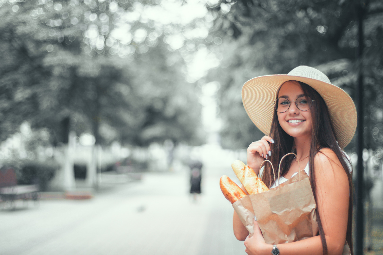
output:
[[357,127],[354,102],[343,89],[332,85],[324,73],[312,67],[301,65],[287,75],[265,75],[247,81],[242,87],[242,102],[252,122],[263,133],[270,134],[278,88],[290,80],[308,84],[323,97],[339,146],[347,146]]

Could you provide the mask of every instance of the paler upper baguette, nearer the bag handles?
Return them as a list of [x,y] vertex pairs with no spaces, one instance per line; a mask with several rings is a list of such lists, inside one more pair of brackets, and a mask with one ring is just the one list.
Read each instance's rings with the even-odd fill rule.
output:
[[249,195],[268,190],[267,186],[255,174],[253,169],[246,166],[242,161],[236,160],[232,162],[231,167]]

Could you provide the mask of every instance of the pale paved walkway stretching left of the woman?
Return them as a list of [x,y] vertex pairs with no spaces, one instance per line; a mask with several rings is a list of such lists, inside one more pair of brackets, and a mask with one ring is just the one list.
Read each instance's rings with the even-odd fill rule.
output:
[[[231,170],[232,172],[232,170]],[[186,173],[149,173],[91,200],[43,200],[0,210],[1,255],[246,255],[216,171],[194,203]]]

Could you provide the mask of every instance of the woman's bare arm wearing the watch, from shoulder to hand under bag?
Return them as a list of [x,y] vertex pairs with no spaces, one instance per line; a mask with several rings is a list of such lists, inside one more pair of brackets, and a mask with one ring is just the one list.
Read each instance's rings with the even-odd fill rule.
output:
[[[349,181],[347,174],[331,149],[322,149],[314,158],[318,213],[321,218],[329,255],[342,254],[345,244],[348,208]],[[259,228],[257,229],[257,231]],[[267,254],[272,245],[266,244],[262,234],[245,241],[249,255]],[[261,238],[262,237],[262,238]],[[322,255],[322,242],[319,236],[277,245],[282,255]]]

